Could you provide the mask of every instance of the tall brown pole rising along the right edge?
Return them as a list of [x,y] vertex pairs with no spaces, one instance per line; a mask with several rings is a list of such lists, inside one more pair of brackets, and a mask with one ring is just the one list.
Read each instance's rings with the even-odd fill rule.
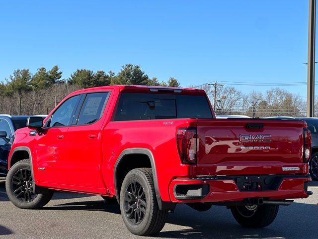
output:
[[316,45],[316,0],[309,0],[307,117],[314,117],[315,115],[315,45]]

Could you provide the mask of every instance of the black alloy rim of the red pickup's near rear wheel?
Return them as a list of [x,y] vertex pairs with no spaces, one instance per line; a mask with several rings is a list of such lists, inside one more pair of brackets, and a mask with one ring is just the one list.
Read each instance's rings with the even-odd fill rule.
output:
[[145,217],[147,209],[147,199],[145,190],[137,181],[132,181],[125,192],[124,199],[125,214],[129,221],[134,224],[140,224]]

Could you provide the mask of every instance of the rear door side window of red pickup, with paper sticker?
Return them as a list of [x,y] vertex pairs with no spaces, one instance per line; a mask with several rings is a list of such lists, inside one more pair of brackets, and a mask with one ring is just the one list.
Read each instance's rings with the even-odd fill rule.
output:
[[107,95],[108,92],[87,94],[80,109],[77,124],[90,124],[100,119],[106,105]]

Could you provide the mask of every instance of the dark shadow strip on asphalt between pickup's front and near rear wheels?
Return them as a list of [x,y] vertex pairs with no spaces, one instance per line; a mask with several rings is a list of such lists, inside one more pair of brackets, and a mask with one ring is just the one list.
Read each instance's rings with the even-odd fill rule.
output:
[[54,207],[43,207],[41,210],[80,210],[80,211],[102,211],[108,213],[120,214],[120,208],[118,204],[107,203],[102,201],[84,201],[84,202],[72,202],[57,204]]

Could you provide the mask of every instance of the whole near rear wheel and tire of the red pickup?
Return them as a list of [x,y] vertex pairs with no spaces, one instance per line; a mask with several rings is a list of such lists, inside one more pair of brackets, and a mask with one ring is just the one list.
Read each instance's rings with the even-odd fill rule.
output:
[[151,168],[128,172],[120,190],[120,211],[132,234],[150,236],[162,230],[168,212],[159,210]]

